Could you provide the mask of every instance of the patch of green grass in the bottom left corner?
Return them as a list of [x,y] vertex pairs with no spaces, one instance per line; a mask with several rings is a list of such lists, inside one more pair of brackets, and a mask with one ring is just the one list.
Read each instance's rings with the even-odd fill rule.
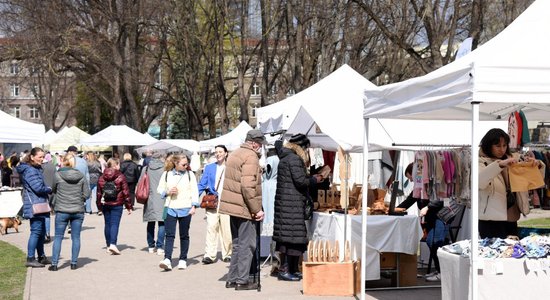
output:
[[0,241],[0,299],[23,299],[26,275],[25,253]]

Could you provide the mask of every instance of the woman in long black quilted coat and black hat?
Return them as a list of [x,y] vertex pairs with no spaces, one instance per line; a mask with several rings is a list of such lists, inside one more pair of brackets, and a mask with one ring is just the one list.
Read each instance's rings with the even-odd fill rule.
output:
[[281,254],[279,280],[301,279],[298,262],[308,242],[304,217],[306,201],[310,197],[308,189],[322,180],[320,175],[307,174],[309,145],[305,135],[296,134],[279,152],[273,226],[273,240]]

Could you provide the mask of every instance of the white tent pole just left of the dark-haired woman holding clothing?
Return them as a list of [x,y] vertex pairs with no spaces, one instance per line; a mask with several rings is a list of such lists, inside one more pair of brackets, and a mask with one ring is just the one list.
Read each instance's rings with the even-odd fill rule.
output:
[[472,174],[471,178],[471,203],[472,203],[472,240],[470,245],[470,299],[476,300],[478,298],[478,275],[477,270],[480,268],[480,261],[477,253],[478,248],[478,217],[479,217],[479,156],[477,141],[478,133],[476,128],[479,128],[479,102],[472,102]]

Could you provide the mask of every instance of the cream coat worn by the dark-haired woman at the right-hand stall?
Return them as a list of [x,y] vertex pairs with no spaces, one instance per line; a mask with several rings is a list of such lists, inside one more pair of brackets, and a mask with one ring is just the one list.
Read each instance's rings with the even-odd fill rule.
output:
[[[520,214],[528,215],[529,193],[517,192],[517,205],[506,208],[506,183],[499,159],[487,157],[479,152],[479,220],[509,221],[519,220]],[[541,162],[542,164],[542,162]],[[544,166],[540,169],[544,176]]]

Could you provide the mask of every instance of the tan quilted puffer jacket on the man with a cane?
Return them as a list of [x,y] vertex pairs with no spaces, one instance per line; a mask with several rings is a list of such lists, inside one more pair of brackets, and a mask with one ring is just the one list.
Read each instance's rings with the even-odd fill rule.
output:
[[233,151],[225,163],[219,213],[253,220],[262,210],[262,177],[258,153],[249,144]]

